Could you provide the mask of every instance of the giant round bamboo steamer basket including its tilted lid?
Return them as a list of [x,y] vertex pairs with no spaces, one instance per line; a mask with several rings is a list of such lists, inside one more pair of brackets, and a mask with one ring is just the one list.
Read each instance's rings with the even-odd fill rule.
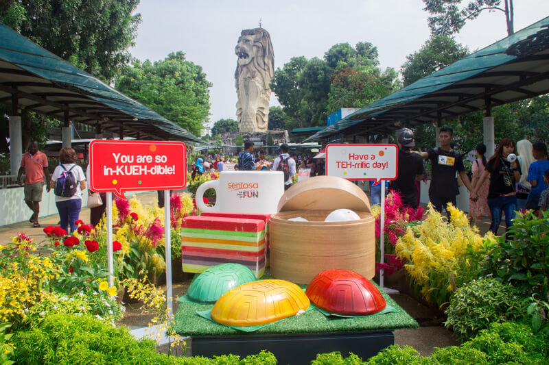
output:
[[[336,209],[353,210],[360,220],[324,222]],[[288,221],[303,217],[308,222]],[[340,177],[316,176],[286,190],[270,218],[270,273],[309,284],[329,269],[375,275],[375,220],[361,188]]]

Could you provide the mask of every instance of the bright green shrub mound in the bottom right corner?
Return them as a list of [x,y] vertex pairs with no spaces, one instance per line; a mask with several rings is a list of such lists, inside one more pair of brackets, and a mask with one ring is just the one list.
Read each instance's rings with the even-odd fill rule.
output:
[[526,325],[494,323],[462,347],[482,351],[489,364],[547,364],[546,340]]

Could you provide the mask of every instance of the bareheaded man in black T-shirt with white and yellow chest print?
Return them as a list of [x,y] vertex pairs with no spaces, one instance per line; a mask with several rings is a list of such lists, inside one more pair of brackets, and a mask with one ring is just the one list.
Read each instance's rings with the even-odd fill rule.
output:
[[447,203],[456,206],[456,195],[459,194],[456,172],[460,175],[463,184],[471,192],[471,181],[465,173],[463,160],[458,151],[452,149],[454,130],[450,127],[441,127],[439,140],[441,147],[419,152],[422,158],[429,159],[432,166],[431,186],[429,187],[429,201],[434,209],[442,212]]

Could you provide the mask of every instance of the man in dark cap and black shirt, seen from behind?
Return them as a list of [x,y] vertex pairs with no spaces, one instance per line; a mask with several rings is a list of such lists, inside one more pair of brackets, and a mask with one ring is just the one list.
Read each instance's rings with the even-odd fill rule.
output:
[[397,191],[405,205],[417,209],[417,187],[415,181],[423,179],[423,159],[412,153],[414,133],[403,128],[399,131],[399,174],[396,180],[390,182],[390,189]]

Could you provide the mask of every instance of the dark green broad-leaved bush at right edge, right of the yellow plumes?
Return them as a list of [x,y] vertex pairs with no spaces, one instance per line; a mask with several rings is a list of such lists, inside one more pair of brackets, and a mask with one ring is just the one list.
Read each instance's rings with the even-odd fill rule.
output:
[[543,212],[542,218],[529,211],[518,212],[509,234],[512,240],[498,238],[499,251],[484,273],[510,282],[525,295],[538,294],[548,301],[549,212]]

